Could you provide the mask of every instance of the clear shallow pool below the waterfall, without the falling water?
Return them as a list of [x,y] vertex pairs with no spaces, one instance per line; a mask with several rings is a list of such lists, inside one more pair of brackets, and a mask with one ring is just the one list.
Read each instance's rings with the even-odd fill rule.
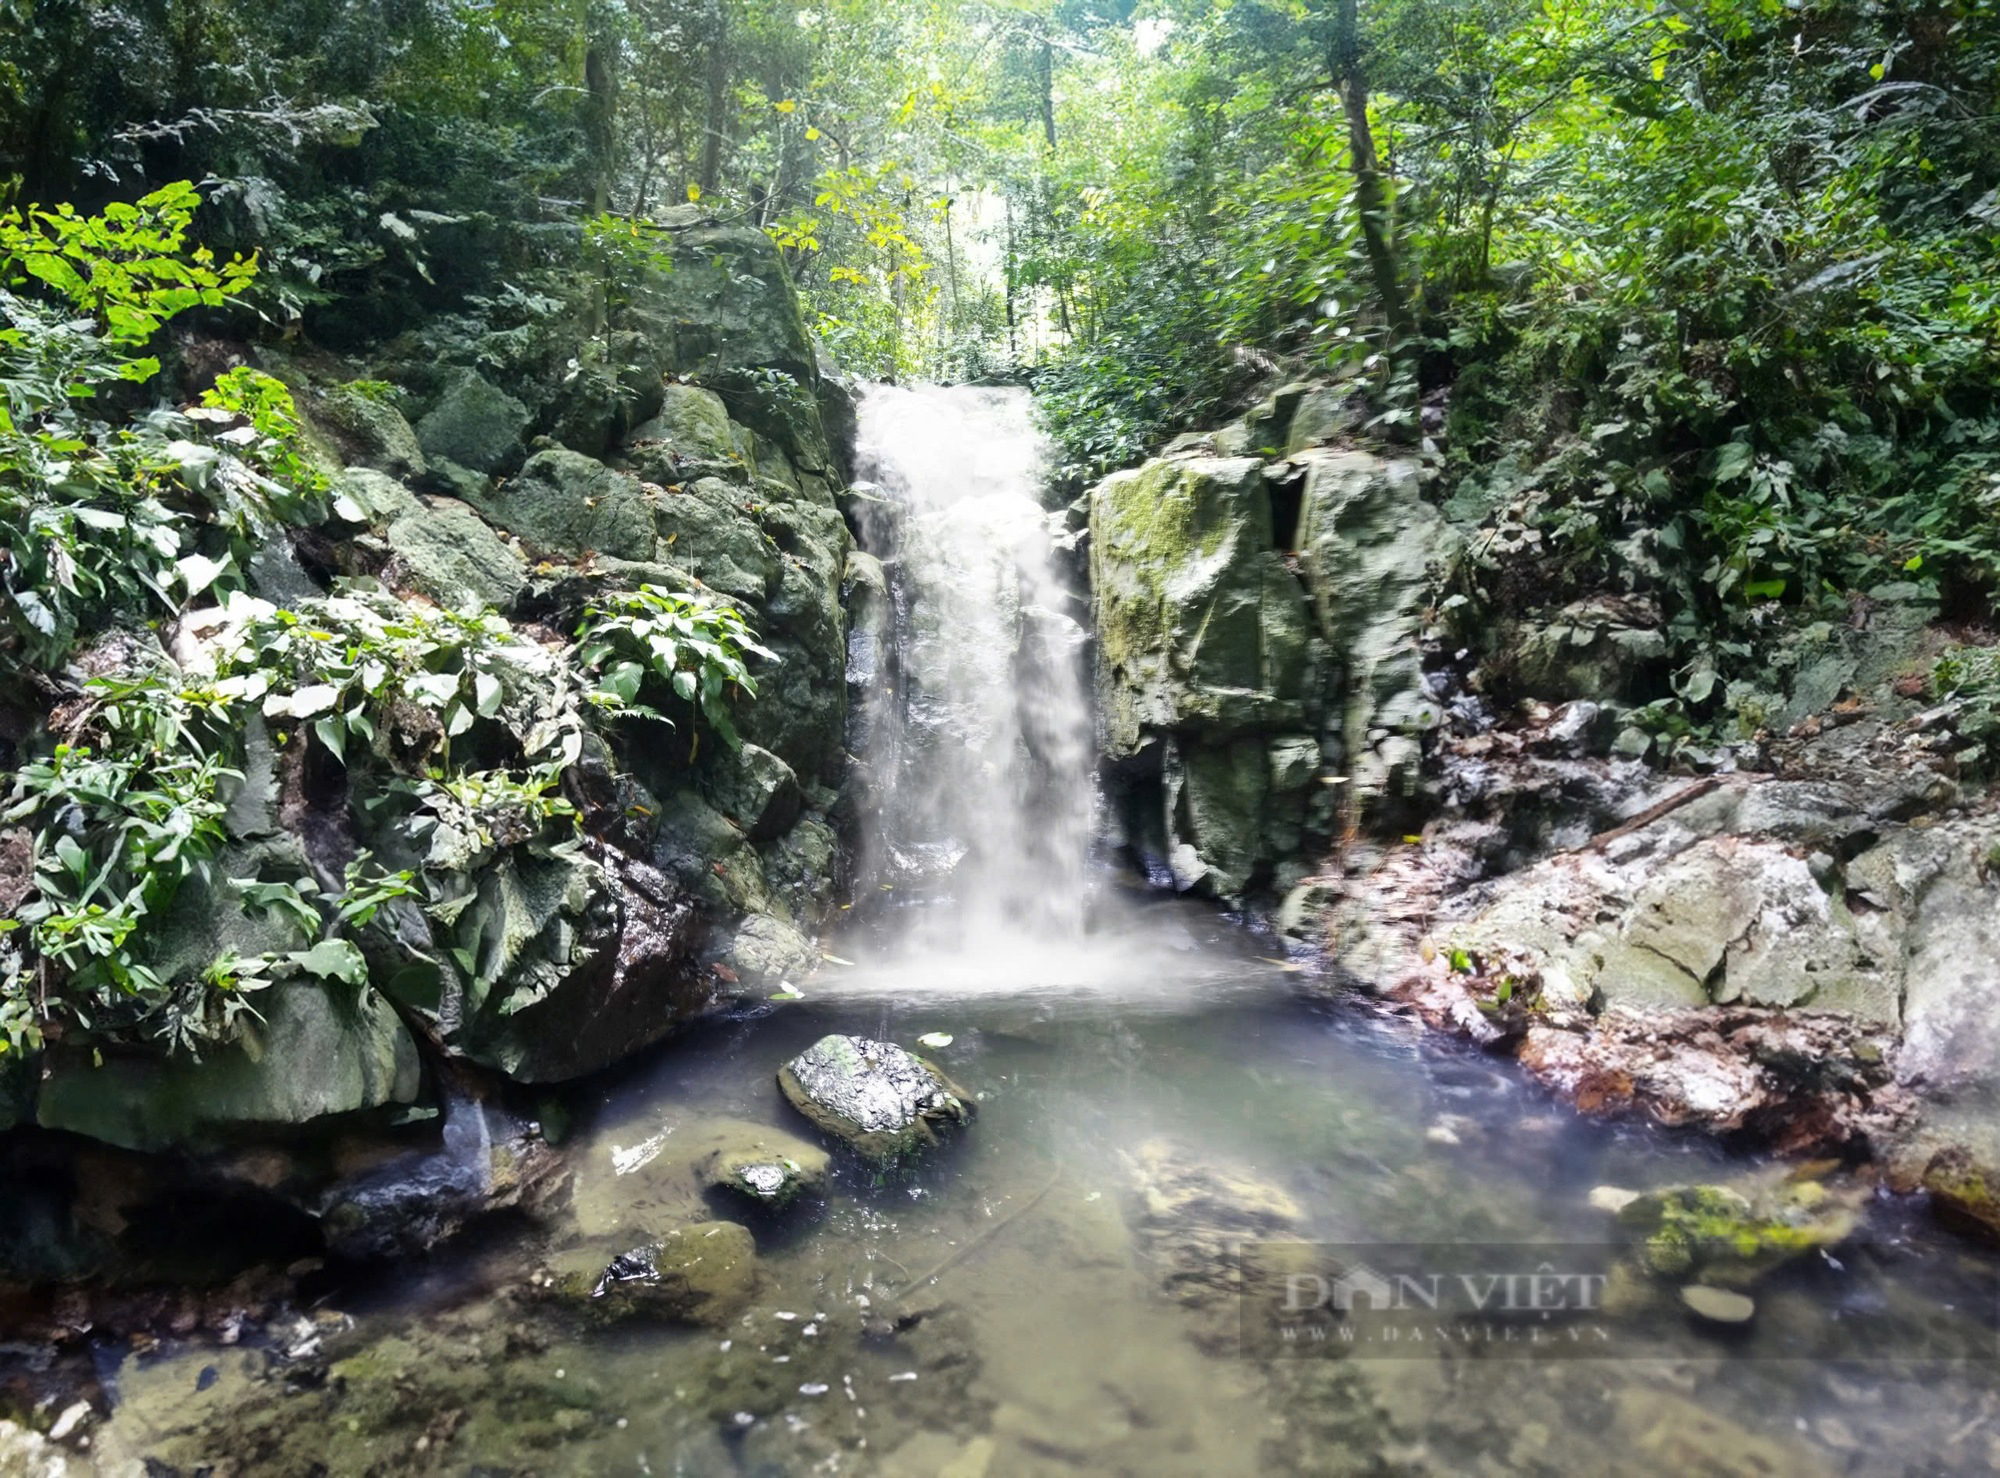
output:
[[[1674,1318],[1658,1332],[1664,1358],[1648,1360],[1240,1358],[1226,1298],[1172,1282],[1212,1208],[1190,1198],[1162,1216],[1154,1196],[1148,1214],[1162,1176],[1288,1196],[1306,1238],[1564,1242],[1606,1236],[1592,1186],[1750,1166],[1704,1140],[1576,1120],[1502,1064],[1440,1052],[1354,1004],[1304,1000],[1296,976],[1258,958],[1260,940],[1206,910],[1112,898],[1094,912],[1080,954],[1028,940],[984,970],[954,954],[948,994],[924,960],[888,950],[878,966],[864,934],[848,938],[854,964],[828,968],[804,1002],[714,1022],[588,1094],[564,1224],[336,1290],[328,1310],[354,1326],[322,1312],[314,1358],[188,1346],[128,1360],[100,1452],[246,1474],[1956,1474],[2000,1462],[1992,1362],[1768,1358],[1882,1300],[1962,1326],[1956,1348],[1978,1348],[1984,1328],[1992,1348],[1990,1310],[1946,1312],[1980,1286],[1982,1254],[1892,1204],[1838,1268],[1816,1260],[1766,1284],[1734,1342]],[[728,1328],[588,1330],[522,1296],[544,1246],[714,1214],[688,1204],[676,1140],[714,1120],[802,1130],[772,1074],[836,1030],[904,1044],[948,1032],[936,1058],[978,1094],[976,1126],[910,1178],[846,1164],[822,1210],[758,1226],[760,1290]],[[618,1172],[654,1140],[650,1162]],[[868,1318],[912,1316],[902,1332],[862,1332]]]

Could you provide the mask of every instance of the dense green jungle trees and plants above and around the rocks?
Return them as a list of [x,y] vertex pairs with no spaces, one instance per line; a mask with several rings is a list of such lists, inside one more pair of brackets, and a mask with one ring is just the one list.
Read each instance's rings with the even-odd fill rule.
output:
[[[2000,580],[1996,0],[4,0],[0,204],[16,692],[320,504],[288,358],[518,364],[576,314],[608,358],[666,212],[768,232],[858,376],[1032,378],[1072,490],[1352,380],[1482,528],[1440,608],[1654,602],[1666,736],[1754,728],[1864,592],[1978,622]],[[540,658],[476,626],[336,614],[444,644],[446,724],[526,702]],[[592,702],[636,700],[600,668],[644,616],[592,618]],[[754,650],[712,636],[710,696]],[[296,656],[244,640],[218,682]],[[370,724],[364,670],[296,716]],[[106,1008],[158,984],[124,930],[200,856],[230,760],[186,736],[226,696],[96,692],[96,756],[22,762],[40,964],[0,1040],[56,966]],[[314,940],[406,882],[276,900],[278,964],[352,972]]]

